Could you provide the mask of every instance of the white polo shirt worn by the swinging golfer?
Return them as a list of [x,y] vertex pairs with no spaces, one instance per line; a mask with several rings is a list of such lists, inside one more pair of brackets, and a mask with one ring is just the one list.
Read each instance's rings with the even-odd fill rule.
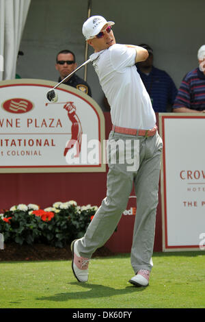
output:
[[90,56],[111,107],[113,125],[152,129],[156,116],[150,96],[137,72],[135,57],[135,48],[119,44]]

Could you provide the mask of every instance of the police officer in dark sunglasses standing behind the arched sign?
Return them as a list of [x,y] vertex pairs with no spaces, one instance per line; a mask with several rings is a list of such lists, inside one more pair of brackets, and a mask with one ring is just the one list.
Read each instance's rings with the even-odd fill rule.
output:
[[[77,69],[74,53],[67,49],[59,51],[56,57],[55,69],[59,71],[60,77],[58,82],[61,82],[62,79]],[[76,74],[72,75],[72,77],[70,77],[67,82],[64,82],[64,84],[77,88],[78,90],[81,90],[82,92],[85,92],[85,94],[92,97],[90,86]]]

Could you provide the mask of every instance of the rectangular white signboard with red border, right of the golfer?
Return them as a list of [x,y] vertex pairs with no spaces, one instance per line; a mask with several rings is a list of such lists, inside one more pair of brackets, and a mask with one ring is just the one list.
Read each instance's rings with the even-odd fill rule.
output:
[[205,115],[159,114],[163,250],[205,245]]

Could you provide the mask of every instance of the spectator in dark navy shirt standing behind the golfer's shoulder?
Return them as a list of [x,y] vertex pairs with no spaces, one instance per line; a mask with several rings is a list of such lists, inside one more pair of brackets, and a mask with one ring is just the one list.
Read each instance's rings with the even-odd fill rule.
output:
[[137,71],[150,95],[154,112],[172,111],[177,88],[172,78],[161,69],[153,66],[153,50],[146,44],[139,45],[147,49],[149,56],[144,62],[138,62]]

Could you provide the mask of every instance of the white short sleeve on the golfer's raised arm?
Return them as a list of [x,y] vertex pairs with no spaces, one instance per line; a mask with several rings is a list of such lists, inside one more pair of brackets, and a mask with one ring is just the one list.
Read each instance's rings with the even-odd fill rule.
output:
[[115,71],[123,71],[128,66],[135,65],[136,50],[135,48],[124,45],[111,46],[111,64]]

